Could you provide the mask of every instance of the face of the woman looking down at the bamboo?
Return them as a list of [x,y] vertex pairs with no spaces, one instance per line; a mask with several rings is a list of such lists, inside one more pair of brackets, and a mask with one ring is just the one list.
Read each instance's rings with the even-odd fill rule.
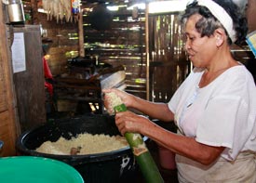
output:
[[195,67],[205,68],[209,66],[209,61],[214,55],[216,46],[213,36],[201,37],[195,29],[195,23],[201,19],[201,16],[195,14],[191,16],[185,24],[186,44],[185,49],[189,59]]

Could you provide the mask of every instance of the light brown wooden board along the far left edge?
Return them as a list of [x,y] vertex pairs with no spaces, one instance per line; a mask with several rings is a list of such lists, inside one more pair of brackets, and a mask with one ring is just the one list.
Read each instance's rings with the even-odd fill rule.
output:
[[0,139],[5,143],[0,156],[16,155],[15,142],[20,134],[20,126],[16,121],[16,100],[6,18],[5,7],[0,1]]

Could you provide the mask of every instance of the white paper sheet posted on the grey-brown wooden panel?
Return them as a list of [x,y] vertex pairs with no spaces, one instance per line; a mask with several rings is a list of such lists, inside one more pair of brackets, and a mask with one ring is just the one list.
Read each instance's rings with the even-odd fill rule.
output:
[[24,33],[14,33],[11,52],[13,72],[15,73],[26,71]]

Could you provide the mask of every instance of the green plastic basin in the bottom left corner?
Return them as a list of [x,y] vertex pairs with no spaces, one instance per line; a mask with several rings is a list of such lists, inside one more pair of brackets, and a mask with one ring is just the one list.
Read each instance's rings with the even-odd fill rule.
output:
[[67,163],[34,156],[0,158],[1,183],[83,183],[82,176]]

